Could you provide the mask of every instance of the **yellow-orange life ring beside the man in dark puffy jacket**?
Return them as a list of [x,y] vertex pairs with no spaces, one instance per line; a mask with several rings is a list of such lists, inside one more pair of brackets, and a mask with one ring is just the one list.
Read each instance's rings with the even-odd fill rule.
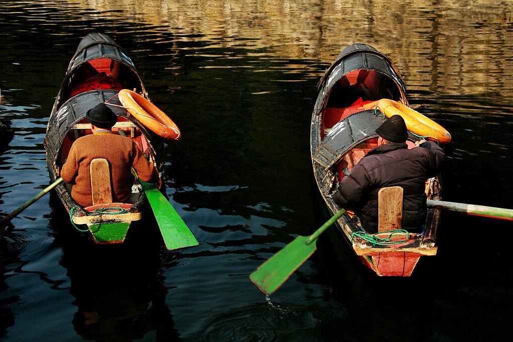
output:
[[431,140],[436,139],[440,144],[447,144],[450,142],[450,133],[445,128],[431,120],[429,117],[406,107],[402,103],[388,98],[383,98],[378,101],[376,107],[378,107],[386,117],[396,114],[401,115],[406,123],[406,127],[412,133],[420,135],[421,137],[431,138]]

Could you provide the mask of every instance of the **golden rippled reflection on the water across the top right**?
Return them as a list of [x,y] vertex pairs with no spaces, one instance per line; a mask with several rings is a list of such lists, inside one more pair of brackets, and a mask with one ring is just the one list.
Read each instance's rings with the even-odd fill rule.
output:
[[[496,0],[73,0],[177,41],[266,48],[275,57],[329,64],[367,43],[388,54],[413,87],[448,94],[513,95],[513,2]],[[197,51],[197,48],[195,48]],[[304,67],[304,66],[302,66]],[[415,73],[415,75],[411,75]],[[441,76],[443,75],[443,76]],[[411,82],[410,82],[411,87]],[[434,89],[433,89],[434,90]],[[440,90],[439,90],[440,91]]]

